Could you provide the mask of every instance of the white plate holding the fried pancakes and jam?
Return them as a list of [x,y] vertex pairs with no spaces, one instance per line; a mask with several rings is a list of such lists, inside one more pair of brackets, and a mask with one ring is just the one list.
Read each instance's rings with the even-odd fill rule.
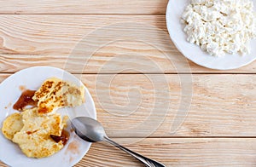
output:
[[[69,72],[50,66],[34,66],[16,72],[0,84],[0,126],[3,126],[3,120],[10,114],[17,112],[12,107],[15,101],[20,97],[20,86],[26,89],[38,89],[45,79],[56,77],[71,81],[77,85],[84,85],[78,78],[75,78]],[[84,87],[85,88],[85,87]],[[77,116],[87,116],[96,118],[96,108],[90,96],[88,89],[85,88],[85,103],[81,107],[64,108],[59,110],[61,114],[68,115],[70,118]],[[70,128],[70,124],[68,125]],[[77,164],[90,148],[90,143],[79,139],[77,135],[70,133],[70,139],[60,152],[48,158],[27,158],[20,148],[13,142],[7,140],[2,131],[0,132],[0,159],[3,163],[12,167],[27,166],[54,166],[71,167]]]

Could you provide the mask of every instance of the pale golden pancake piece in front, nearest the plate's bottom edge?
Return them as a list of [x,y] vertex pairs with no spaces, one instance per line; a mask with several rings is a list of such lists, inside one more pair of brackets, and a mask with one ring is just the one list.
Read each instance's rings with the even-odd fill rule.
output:
[[21,113],[23,128],[14,135],[12,141],[20,146],[27,157],[44,158],[57,153],[64,146],[61,141],[54,141],[50,135],[61,135],[66,124],[61,115],[38,115],[37,108],[27,109]]

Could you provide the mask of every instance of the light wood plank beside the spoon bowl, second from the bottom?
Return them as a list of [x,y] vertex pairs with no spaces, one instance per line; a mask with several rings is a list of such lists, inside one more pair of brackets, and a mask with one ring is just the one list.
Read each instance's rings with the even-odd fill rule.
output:
[[[3,80],[8,75],[0,76]],[[182,76],[84,74],[77,77],[90,90],[98,120],[111,137],[256,136],[255,75],[193,75],[192,102],[184,116],[177,112]],[[166,110],[168,105],[170,108]],[[174,120],[183,122],[173,124]],[[177,131],[171,133],[172,128]]]

